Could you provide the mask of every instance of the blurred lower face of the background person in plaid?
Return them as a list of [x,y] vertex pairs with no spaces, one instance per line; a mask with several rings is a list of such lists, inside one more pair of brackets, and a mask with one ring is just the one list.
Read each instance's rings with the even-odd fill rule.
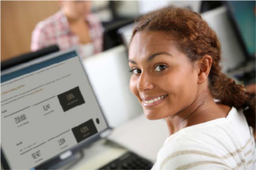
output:
[[84,17],[90,13],[90,0],[61,0],[61,8],[74,19]]

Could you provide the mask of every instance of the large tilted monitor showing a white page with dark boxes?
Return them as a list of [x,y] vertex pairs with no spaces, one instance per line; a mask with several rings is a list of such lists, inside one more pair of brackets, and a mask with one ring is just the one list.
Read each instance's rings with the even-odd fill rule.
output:
[[75,49],[0,71],[0,147],[9,169],[48,166],[108,129]]

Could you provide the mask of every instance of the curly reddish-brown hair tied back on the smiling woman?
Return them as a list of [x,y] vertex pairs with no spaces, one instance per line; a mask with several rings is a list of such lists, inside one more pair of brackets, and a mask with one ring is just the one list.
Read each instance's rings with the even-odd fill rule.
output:
[[219,99],[221,104],[243,110],[249,126],[256,128],[256,98],[248,94],[243,85],[236,84],[221,72],[221,46],[218,37],[200,14],[174,6],[161,8],[136,20],[131,41],[138,31],[166,32],[191,62],[206,54],[210,55],[212,67],[208,82],[212,97]]

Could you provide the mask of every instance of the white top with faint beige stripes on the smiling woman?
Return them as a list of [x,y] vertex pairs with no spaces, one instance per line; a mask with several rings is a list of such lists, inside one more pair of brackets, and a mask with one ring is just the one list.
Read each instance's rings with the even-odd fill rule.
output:
[[169,136],[152,170],[256,169],[253,129],[232,108],[226,118],[185,127]]

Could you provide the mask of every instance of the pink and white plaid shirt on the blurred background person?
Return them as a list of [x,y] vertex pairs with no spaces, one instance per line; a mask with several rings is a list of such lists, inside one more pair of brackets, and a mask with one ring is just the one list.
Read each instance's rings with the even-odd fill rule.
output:
[[[94,54],[100,53],[102,51],[102,25],[94,14],[89,14],[85,20],[89,24]],[[79,47],[79,37],[70,31],[67,17],[62,11],[39,22],[32,32],[32,51],[53,44],[57,44],[61,50],[72,48],[73,46]]]

